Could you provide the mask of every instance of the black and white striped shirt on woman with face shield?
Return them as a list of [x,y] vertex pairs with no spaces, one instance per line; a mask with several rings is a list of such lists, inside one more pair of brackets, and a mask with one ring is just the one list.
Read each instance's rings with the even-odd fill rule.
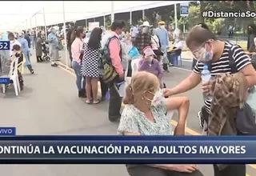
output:
[[[231,46],[231,47],[230,47]],[[237,70],[242,70],[245,66],[251,64],[251,59],[239,46],[225,42],[225,47],[222,56],[217,62],[213,62],[211,65],[211,75],[217,76],[218,74],[231,74],[230,60],[229,60],[229,50],[234,58],[235,66]],[[202,62],[197,62],[194,66],[194,73],[201,74],[204,64]],[[204,102],[206,110],[210,112],[210,101],[205,100]]]

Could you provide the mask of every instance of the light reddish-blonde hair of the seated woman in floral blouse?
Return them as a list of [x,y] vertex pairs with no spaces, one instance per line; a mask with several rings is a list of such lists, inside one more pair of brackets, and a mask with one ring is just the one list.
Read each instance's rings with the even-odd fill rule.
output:
[[146,71],[139,71],[131,78],[129,86],[126,88],[126,97],[123,103],[134,104],[138,98],[142,98],[142,94],[146,91],[155,92],[158,90],[159,81],[154,74]]

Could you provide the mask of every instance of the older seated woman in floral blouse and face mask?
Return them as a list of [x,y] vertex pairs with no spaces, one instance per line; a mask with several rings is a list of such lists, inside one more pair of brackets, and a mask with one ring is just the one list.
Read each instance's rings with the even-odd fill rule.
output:
[[[186,97],[163,98],[158,78],[145,71],[136,73],[126,88],[126,104],[122,111],[118,134],[172,135],[167,110],[178,110],[174,135],[185,134],[190,101]],[[130,176],[202,176],[195,165],[127,165]]]

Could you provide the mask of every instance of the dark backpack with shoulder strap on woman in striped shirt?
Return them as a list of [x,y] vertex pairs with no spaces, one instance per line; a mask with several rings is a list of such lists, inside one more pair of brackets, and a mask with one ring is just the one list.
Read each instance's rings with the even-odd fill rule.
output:
[[[231,47],[232,46],[229,47],[229,65],[231,68],[231,74],[235,74],[238,72],[238,69],[234,62]],[[211,62],[207,63],[206,65],[208,66],[208,69],[211,71]],[[250,108],[250,105],[246,102],[244,103],[243,108],[241,110],[238,110],[236,117],[236,127],[242,134],[256,135],[255,113],[254,110]]]

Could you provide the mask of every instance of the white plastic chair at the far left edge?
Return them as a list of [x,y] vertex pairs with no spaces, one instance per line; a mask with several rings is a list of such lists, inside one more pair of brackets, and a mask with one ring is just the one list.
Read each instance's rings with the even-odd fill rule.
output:
[[[13,82],[16,96],[18,96],[18,94],[21,91],[20,85],[18,82],[18,66],[21,64],[18,64],[18,58],[14,58],[14,60],[10,63],[9,74],[1,76],[3,78],[10,78],[10,80]],[[2,92],[6,93],[6,85],[5,84],[2,84]]]

